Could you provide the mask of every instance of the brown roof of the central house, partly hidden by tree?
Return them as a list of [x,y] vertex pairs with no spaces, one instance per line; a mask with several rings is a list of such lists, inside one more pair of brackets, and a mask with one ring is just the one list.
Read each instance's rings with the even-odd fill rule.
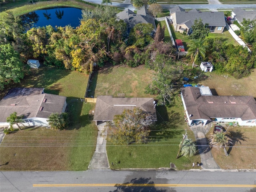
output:
[[112,121],[114,116],[122,114],[124,109],[132,110],[134,107],[137,107],[150,113],[154,117],[154,120],[157,121],[153,102],[153,98],[98,96],[93,120],[96,121],[96,124],[104,121]]

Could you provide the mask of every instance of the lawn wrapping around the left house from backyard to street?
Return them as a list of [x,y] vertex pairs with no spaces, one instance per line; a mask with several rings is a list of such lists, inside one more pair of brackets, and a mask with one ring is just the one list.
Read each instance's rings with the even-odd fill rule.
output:
[[[91,121],[94,104],[84,97],[88,76],[76,71],[31,69],[16,87],[44,87],[46,93],[67,96],[72,125],[68,130],[24,129],[6,135],[0,150],[1,170],[86,170],[95,150],[97,127]],[[14,87],[15,87],[14,86]]]

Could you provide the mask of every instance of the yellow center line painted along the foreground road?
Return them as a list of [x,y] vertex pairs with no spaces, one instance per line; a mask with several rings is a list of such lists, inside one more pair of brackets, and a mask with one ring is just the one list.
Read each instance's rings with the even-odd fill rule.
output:
[[248,187],[256,188],[256,185],[233,184],[33,184],[33,187]]

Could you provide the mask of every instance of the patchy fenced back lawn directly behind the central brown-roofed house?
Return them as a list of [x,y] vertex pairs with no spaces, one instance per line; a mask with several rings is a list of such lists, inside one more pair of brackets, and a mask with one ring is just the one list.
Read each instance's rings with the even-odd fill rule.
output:
[[137,68],[125,65],[109,66],[94,72],[89,96],[152,97],[144,93],[151,78],[152,70],[144,68],[143,65]]

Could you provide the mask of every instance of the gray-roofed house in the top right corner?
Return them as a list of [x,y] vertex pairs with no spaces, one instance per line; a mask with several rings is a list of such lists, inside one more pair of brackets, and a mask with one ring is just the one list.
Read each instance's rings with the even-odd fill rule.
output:
[[243,19],[246,19],[246,20],[250,19],[251,21],[256,20],[256,10],[246,11],[241,8],[236,8],[232,11],[231,16],[232,18],[234,18],[234,20],[237,20],[238,23],[241,24]]

